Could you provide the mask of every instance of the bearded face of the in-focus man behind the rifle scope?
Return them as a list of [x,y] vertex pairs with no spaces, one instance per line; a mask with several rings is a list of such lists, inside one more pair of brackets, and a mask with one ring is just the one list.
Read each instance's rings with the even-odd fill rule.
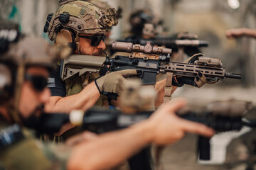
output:
[[[81,34],[82,36],[87,36],[87,37],[92,37],[95,35],[88,35],[88,34]],[[92,41],[89,38],[79,38],[79,42],[80,42],[80,54],[82,55],[101,55],[103,50],[106,49],[106,45],[105,42],[103,42],[103,40],[100,40],[99,44],[96,45],[97,46],[92,46]]]

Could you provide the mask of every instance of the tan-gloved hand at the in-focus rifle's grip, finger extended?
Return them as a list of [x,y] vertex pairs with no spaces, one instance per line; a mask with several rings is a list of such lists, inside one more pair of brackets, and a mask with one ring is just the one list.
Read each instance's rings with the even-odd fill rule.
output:
[[103,92],[119,94],[122,91],[124,84],[128,81],[126,77],[135,76],[137,74],[136,69],[125,69],[118,72],[111,72],[110,74],[100,77],[95,80],[95,84],[100,91]]

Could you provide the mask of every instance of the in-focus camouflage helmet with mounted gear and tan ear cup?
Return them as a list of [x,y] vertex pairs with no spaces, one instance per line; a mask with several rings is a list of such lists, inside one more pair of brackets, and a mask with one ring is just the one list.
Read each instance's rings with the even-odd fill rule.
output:
[[87,1],[60,0],[60,7],[48,15],[45,33],[50,40],[66,43],[79,52],[78,34],[107,34],[116,26],[117,11],[103,11]]

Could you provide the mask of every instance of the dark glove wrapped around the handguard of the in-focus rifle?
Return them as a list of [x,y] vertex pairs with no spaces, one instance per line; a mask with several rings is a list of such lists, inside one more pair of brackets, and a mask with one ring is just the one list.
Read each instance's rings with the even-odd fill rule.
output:
[[[184,63],[194,64],[194,62],[198,60],[198,57],[203,57],[203,55],[201,53],[193,55],[192,57],[189,57]],[[176,79],[173,79],[173,84],[174,86],[183,86],[183,84],[189,84],[199,88],[206,83],[214,84],[217,81],[217,79],[206,79],[206,76],[202,72],[198,72],[196,77],[176,77]]]

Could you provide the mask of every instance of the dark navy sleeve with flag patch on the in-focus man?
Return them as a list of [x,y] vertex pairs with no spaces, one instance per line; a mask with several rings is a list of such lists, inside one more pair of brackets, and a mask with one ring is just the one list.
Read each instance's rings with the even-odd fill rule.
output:
[[49,72],[47,86],[50,89],[51,96],[66,96],[65,83],[60,79],[60,76],[55,69],[51,69]]

